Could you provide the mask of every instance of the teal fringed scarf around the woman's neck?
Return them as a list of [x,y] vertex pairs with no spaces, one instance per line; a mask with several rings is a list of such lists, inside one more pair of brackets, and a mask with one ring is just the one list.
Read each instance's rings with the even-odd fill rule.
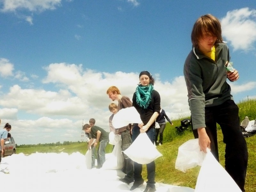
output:
[[154,86],[149,84],[148,86],[138,85],[136,88],[136,103],[141,108],[147,109],[151,101],[152,92]]

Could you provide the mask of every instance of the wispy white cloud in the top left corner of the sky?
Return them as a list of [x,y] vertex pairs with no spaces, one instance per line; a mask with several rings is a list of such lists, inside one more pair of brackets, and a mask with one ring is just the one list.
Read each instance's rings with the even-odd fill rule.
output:
[[16,12],[25,9],[30,12],[43,12],[45,10],[54,10],[61,5],[61,0],[3,0],[3,12]]

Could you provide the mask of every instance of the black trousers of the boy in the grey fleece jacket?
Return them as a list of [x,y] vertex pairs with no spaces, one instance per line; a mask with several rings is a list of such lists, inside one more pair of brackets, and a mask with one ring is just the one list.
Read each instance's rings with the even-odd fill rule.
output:
[[[211,140],[211,152],[219,161],[216,123],[220,125],[223,142],[226,144],[225,169],[235,180],[239,188],[244,191],[248,151],[246,141],[240,129],[238,110],[233,100],[228,100],[218,106],[206,107],[205,130]],[[193,130],[193,133],[195,138],[198,138],[197,130]]]

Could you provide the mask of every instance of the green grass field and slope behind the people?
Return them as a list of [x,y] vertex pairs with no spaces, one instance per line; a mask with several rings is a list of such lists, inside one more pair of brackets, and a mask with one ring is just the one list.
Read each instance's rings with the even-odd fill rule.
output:
[[[248,116],[250,120],[256,119],[256,100],[246,100],[238,104],[239,106],[239,117],[240,121]],[[173,120],[173,125],[171,126],[167,123],[164,131],[164,143],[162,146],[157,146],[163,157],[156,159],[156,182],[162,182],[171,185],[186,186],[195,188],[197,176],[200,170],[200,166],[188,170],[186,173],[175,169],[175,161],[178,154],[178,148],[181,144],[187,140],[194,139],[191,130],[186,130],[182,134],[179,134],[175,126],[180,125],[180,120]],[[218,130],[218,145],[220,154],[220,164],[224,166],[225,161],[225,144],[222,142],[222,132]],[[256,135],[245,138],[247,142],[249,161],[246,175],[245,190],[246,192],[256,191]],[[17,153],[31,154],[35,152],[47,153],[61,153],[65,152],[72,154],[73,152],[80,152],[85,154],[87,149],[87,143],[78,143],[66,146],[56,146],[56,147],[30,147],[30,148],[17,148]],[[112,145],[107,146],[106,153],[112,151]],[[146,165],[143,165],[143,178],[147,180]]]

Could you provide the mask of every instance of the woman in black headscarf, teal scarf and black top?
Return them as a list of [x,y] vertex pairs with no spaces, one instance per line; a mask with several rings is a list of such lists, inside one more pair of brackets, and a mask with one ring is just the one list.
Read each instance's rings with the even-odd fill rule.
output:
[[[160,95],[154,90],[155,80],[148,71],[140,72],[140,84],[132,97],[132,106],[135,107],[140,114],[142,124],[135,125],[132,132],[132,142],[140,133],[146,132],[149,139],[154,143],[155,140],[155,121],[160,113]],[[134,162],[134,183],[130,190],[138,188],[144,183],[141,175],[142,164]],[[154,192],[155,187],[155,162],[147,164],[147,187],[144,192]]]

